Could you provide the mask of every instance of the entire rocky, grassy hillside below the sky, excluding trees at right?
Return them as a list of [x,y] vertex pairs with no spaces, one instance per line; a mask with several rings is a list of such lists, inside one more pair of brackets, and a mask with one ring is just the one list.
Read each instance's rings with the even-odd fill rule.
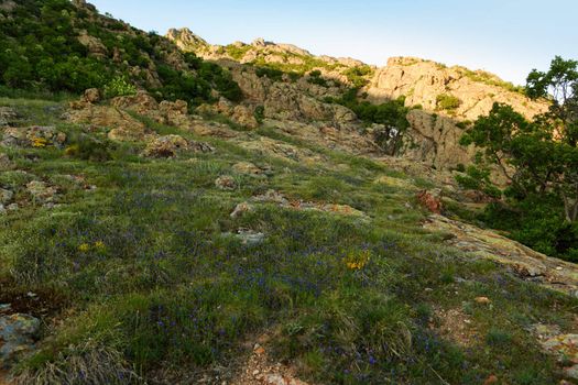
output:
[[547,102],[80,0],[0,2],[0,384],[578,381],[578,267],[457,182]]

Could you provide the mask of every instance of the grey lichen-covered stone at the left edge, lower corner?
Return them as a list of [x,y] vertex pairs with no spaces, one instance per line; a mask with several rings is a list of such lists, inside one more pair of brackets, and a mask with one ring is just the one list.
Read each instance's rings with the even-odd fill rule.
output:
[[0,317],[0,369],[10,369],[23,355],[35,350],[34,339],[40,331],[40,320],[29,315],[15,314]]

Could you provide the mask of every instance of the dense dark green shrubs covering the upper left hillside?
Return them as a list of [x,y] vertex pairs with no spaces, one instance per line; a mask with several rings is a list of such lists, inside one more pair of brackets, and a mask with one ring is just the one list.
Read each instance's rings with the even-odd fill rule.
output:
[[[181,54],[165,37],[69,1],[24,0],[0,12],[0,86],[54,94],[106,87],[110,96],[118,96],[131,94],[129,85],[134,85],[160,99],[179,98],[190,105],[212,101],[211,88],[233,101],[242,98],[219,66],[186,54],[185,67],[177,69],[174,57]],[[151,69],[155,67],[157,74]]]

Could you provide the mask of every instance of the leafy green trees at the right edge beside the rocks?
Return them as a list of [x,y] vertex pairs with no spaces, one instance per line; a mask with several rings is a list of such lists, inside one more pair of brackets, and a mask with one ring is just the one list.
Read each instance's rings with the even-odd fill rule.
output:
[[[574,257],[578,248],[577,68],[578,62],[556,57],[547,73],[530,74],[528,96],[552,97],[547,113],[528,121],[510,106],[495,103],[461,139],[465,145],[482,148],[484,161],[510,183],[504,193],[520,221],[504,222],[503,210],[490,206],[490,224],[561,257]],[[473,175],[469,180],[486,184],[488,177]]]

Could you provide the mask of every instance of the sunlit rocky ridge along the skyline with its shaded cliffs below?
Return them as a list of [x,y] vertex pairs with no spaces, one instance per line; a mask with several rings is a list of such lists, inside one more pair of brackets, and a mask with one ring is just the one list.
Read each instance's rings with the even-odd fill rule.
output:
[[[392,58],[382,68],[350,58],[314,56],[288,44],[260,38],[251,44],[237,42],[227,46],[210,45],[188,29],[171,30],[167,37],[186,52],[194,52],[231,69],[243,94],[264,106],[264,116],[281,120],[336,122],[368,132],[345,109],[335,111],[328,98],[339,98],[351,88],[358,89],[360,102],[380,105],[403,97],[408,129],[402,133],[396,155],[436,167],[455,167],[471,161],[475,151],[459,145],[462,127],[487,114],[494,102],[508,102],[527,117],[545,112],[546,102],[535,102],[494,75],[464,67],[451,67],[417,58]],[[257,68],[257,69],[255,69]],[[281,72],[271,76],[268,72]],[[269,74],[270,76],[264,76]],[[287,108],[290,107],[290,108]],[[371,133],[386,132],[396,136],[402,131],[385,124],[370,125]],[[391,144],[381,150],[391,154]],[[368,148],[369,150],[369,148]]]

